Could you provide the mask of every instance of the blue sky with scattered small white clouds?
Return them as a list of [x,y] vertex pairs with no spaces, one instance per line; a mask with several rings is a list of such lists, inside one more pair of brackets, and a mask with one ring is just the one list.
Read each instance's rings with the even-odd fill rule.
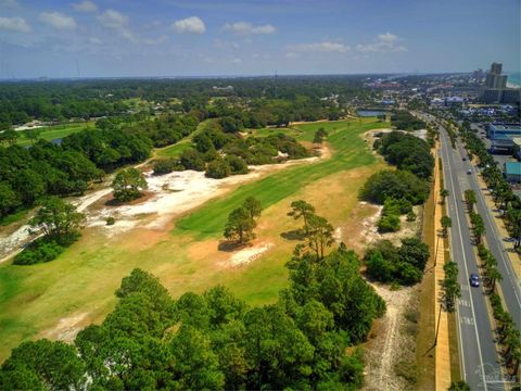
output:
[[0,0],[0,78],[520,70],[520,0]]

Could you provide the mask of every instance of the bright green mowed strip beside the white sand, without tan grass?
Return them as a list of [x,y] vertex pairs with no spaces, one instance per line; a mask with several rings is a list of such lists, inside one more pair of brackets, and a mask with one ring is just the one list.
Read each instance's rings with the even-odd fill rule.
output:
[[333,156],[317,164],[291,167],[254,184],[242,186],[231,195],[208,202],[177,222],[173,234],[182,231],[191,234],[198,239],[218,237],[226,224],[226,218],[223,218],[223,216],[227,216],[247,197],[255,197],[260,201],[263,207],[268,207],[314,180],[342,169],[373,163],[376,159],[365,148],[365,142],[359,135],[387,125],[386,123],[376,122],[373,118],[356,123],[342,121],[300,125],[298,129],[302,129],[303,133],[297,138],[306,141],[313,138],[318,128],[323,127],[329,133],[328,141],[334,149]]

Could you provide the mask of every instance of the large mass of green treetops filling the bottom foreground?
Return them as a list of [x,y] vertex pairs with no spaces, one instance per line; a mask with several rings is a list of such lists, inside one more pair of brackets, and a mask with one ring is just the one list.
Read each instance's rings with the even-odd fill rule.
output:
[[364,382],[359,350],[385,303],[344,247],[317,261],[294,255],[277,303],[249,307],[228,289],[174,300],[135,269],[101,325],[74,344],[38,340],[14,349],[0,388],[164,390],[353,390]]

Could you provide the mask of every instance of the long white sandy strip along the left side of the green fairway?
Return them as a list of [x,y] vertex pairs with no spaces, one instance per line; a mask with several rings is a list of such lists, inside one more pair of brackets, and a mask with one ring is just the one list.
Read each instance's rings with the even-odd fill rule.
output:
[[[234,175],[224,179],[206,178],[204,173],[194,171],[175,172],[162,176],[147,174],[149,185],[148,199],[131,205],[94,207],[103,198],[112,192],[109,187],[111,177],[105,180],[106,187],[94,190],[84,197],[68,199],[79,212],[87,215],[87,227],[97,227],[109,237],[126,232],[137,225],[145,229],[164,229],[171,218],[191,209],[202,205],[212,198],[223,194],[231,186],[246,182],[268,173],[284,169],[293,165],[309,164],[327,159],[328,153],[320,157],[307,157],[288,161],[283,164],[267,164],[250,166],[250,173]],[[114,217],[115,224],[107,226],[106,218]],[[9,235],[0,235],[0,263],[20,252],[25,243],[36,238],[24,225]]]

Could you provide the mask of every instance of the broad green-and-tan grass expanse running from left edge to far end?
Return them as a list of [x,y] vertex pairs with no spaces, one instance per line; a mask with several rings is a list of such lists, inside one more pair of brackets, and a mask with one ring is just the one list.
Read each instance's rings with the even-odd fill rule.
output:
[[[277,300],[287,283],[284,264],[297,243],[281,237],[300,225],[285,216],[291,201],[306,199],[335,227],[348,227],[359,187],[382,166],[360,134],[386,126],[374,119],[300,125],[303,140],[319,127],[330,133],[330,159],[239,186],[163,231],[135,229],[106,238],[88,229],[48,264],[1,265],[0,362],[23,340],[66,339],[78,328],[102,321],[116,303],[115,289],[135,267],[158,276],[174,297],[223,283],[252,305]],[[232,267],[231,254],[217,250],[218,240],[229,211],[249,195],[258,198],[265,207],[256,243],[269,242],[272,248],[247,265]]]

